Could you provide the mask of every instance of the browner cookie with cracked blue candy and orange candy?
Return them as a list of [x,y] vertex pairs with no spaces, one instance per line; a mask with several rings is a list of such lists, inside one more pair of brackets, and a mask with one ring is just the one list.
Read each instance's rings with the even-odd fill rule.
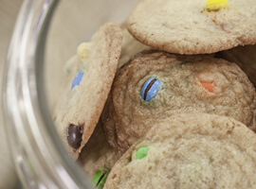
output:
[[255,96],[235,63],[150,50],[119,69],[101,120],[109,143],[125,151],[155,123],[176,113],[227,115],[255,129]]

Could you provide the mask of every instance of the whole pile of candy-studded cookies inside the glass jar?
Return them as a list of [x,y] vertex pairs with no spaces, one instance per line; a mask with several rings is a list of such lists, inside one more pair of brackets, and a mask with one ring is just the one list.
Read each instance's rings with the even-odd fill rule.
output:
[[253,43],[254,0],[141,0],[66,63],[68,153],[97,188],[256,188],[256,92],[228,61]]

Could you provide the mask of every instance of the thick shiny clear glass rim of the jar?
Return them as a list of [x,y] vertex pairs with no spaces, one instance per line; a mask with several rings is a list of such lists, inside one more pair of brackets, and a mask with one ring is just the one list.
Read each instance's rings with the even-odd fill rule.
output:
[[20,9],[3,78],[5,129],[16,170],[26,188],[91,188],[64,149],[43,87],[46,33],[58,2],[26,0]]

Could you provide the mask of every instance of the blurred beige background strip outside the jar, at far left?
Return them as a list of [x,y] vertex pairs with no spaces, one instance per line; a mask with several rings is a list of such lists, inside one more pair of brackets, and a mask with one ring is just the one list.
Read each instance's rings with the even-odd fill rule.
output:
[[[2,90],[2,76],[9,47],[9,40],[22,0],[0,0],[0,87]],[[2,106],[2,93],[0,105]],[[3,111],[0,109],[0,189],[20,188],[14,165],[10,159],[8,139],[3,124]]]

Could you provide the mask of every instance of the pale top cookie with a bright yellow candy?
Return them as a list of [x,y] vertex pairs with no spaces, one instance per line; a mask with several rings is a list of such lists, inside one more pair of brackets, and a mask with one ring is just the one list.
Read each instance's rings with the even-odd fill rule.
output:
[[142,0],[128,19],[141,43],[178,54],[208,54],[256,43],[254,0]]

